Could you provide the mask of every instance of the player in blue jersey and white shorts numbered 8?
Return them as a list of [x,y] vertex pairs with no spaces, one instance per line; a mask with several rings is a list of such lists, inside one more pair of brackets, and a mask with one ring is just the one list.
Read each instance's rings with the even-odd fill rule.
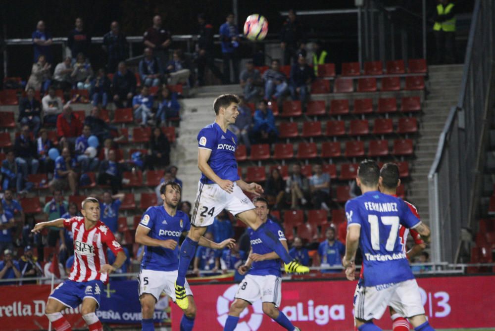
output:
[[[270,212],[268,201],[261,197],[253,199],[256,207],[256,214],[267,229],[277,234],[278,240],[287,249],[287,240],[284,231],[277,223],[268,219]],[[239,267],[241,275],[247,273],[244,280],[239,284],[235,300],[230,306],[229,316],[225,321],[224,331],[234,331],[239,322],[239,316],[247,308],[248,304],[253,304],[261,299],[263,302],[263,312],[270,316],[275,322],[289,331],[299,330],[291,321],[278,310],[282,301],[282,278],[280,272],[280,257],[270,247],[265,245],[263,239],[257,231],[247,229],[251,250],[246,263]],[[243,329],[244,330],[244,329]]]

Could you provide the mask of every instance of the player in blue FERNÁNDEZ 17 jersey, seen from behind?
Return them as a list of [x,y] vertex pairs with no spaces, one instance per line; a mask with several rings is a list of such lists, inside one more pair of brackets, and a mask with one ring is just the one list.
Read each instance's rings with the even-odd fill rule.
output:
[[428,241],[430,229],[406,203],[378,190],[380,169],[376,162],[359,164],[356,183],[361,196],[347,201],[346,255],[342,264],[353,280],[354,259],[361,247],[364,277],[354,295],[354,319],[359,331],[381,330],[373,324],[391,306],[405,316],[416,331],[433,331],[426,320],[419,287],[409,267],[399,236],[399,225],[415,229]]

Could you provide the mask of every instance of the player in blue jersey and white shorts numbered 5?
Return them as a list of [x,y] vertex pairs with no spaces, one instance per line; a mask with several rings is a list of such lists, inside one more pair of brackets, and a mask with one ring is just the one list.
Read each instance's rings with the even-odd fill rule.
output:
[[[180,236],[191,228],[187,214],[177,210],[181,199],[181,187],[177,183],[169,182],[160,187],[160,194],[163,205],[149,207],[136,230],[136,242],[145,245],[139,273],[143,331],[154,330],[154,307],[162,291],[175,301],[174,283],[179,267],[177,244]],[[217,244],[201,236],[199,245],[222,249],[234,245],[234,240],[226,239]],[[185,288],[189,306],[184,309],[181,331],[193,330],[196,316],[193,293],[187,282]]]

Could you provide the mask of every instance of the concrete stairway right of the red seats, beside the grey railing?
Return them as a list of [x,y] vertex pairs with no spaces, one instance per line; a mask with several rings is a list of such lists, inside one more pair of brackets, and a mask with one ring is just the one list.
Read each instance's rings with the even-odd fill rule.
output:
[[411,201],[426,223],[428,210],[428,172],[435,158],[439,136],[444,129],[450,107],[457,103],[463,65],[428,66],[429,94],[423,102],[416,159],[411,161],[411,178],[407,200]]

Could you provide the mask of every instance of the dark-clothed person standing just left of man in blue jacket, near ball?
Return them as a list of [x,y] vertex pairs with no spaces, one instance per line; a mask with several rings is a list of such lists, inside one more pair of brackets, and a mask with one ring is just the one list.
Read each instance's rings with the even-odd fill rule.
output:
[[213,58],[213,25],[206,23],[204,14],[198,14],[198,84],[204,85],[204,69],[208,67],[216,78],[222,81],[223,84],[227,84],[225,77],[217,68]]

